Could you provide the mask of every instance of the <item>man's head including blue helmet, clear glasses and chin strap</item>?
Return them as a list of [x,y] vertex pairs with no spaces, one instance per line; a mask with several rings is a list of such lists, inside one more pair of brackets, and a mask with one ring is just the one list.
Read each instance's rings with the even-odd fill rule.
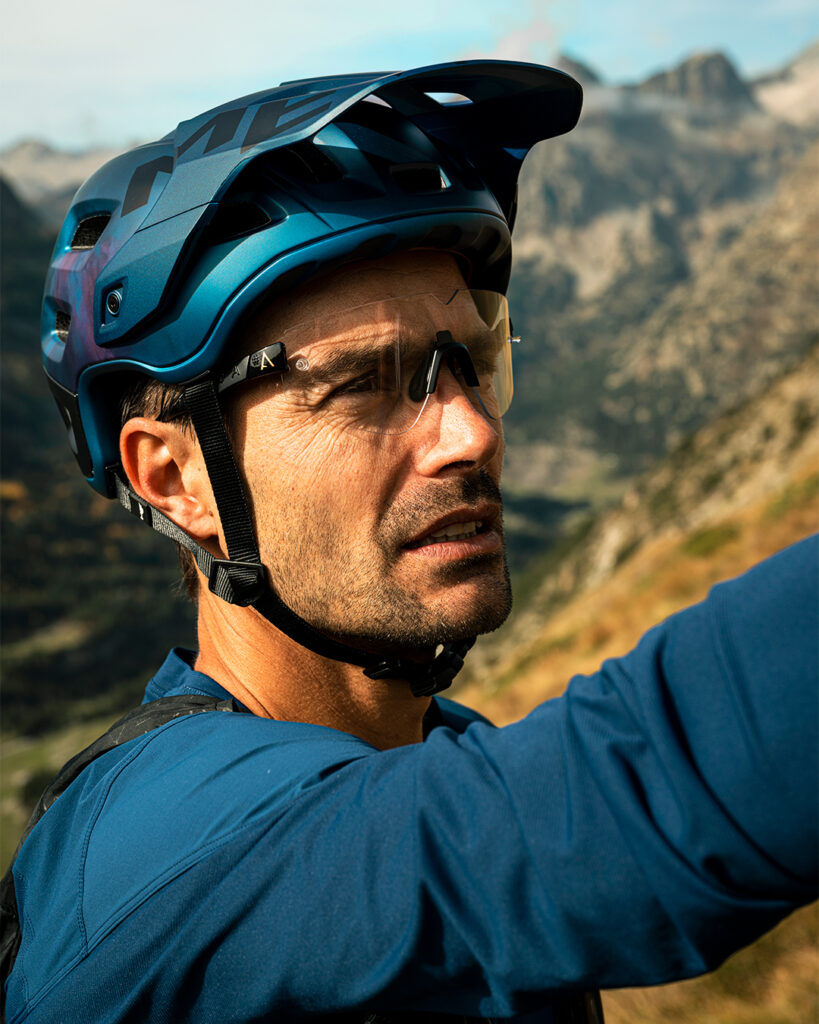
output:
[[[417,692],[445,685],[509,604],[517,174],[579,103],[567,76],[527,65],[345,76],[236,100],[106,165],[75,199],[43,314],[90,482],[191,550],[219,598],[325,656],[407,678],[373,651],[448,642]],[[164,401],[148,384],[143,409],[133,390],[123,406],[134,373],[181,401],[169,422],[129,420],[120,455],[118,412]]]

